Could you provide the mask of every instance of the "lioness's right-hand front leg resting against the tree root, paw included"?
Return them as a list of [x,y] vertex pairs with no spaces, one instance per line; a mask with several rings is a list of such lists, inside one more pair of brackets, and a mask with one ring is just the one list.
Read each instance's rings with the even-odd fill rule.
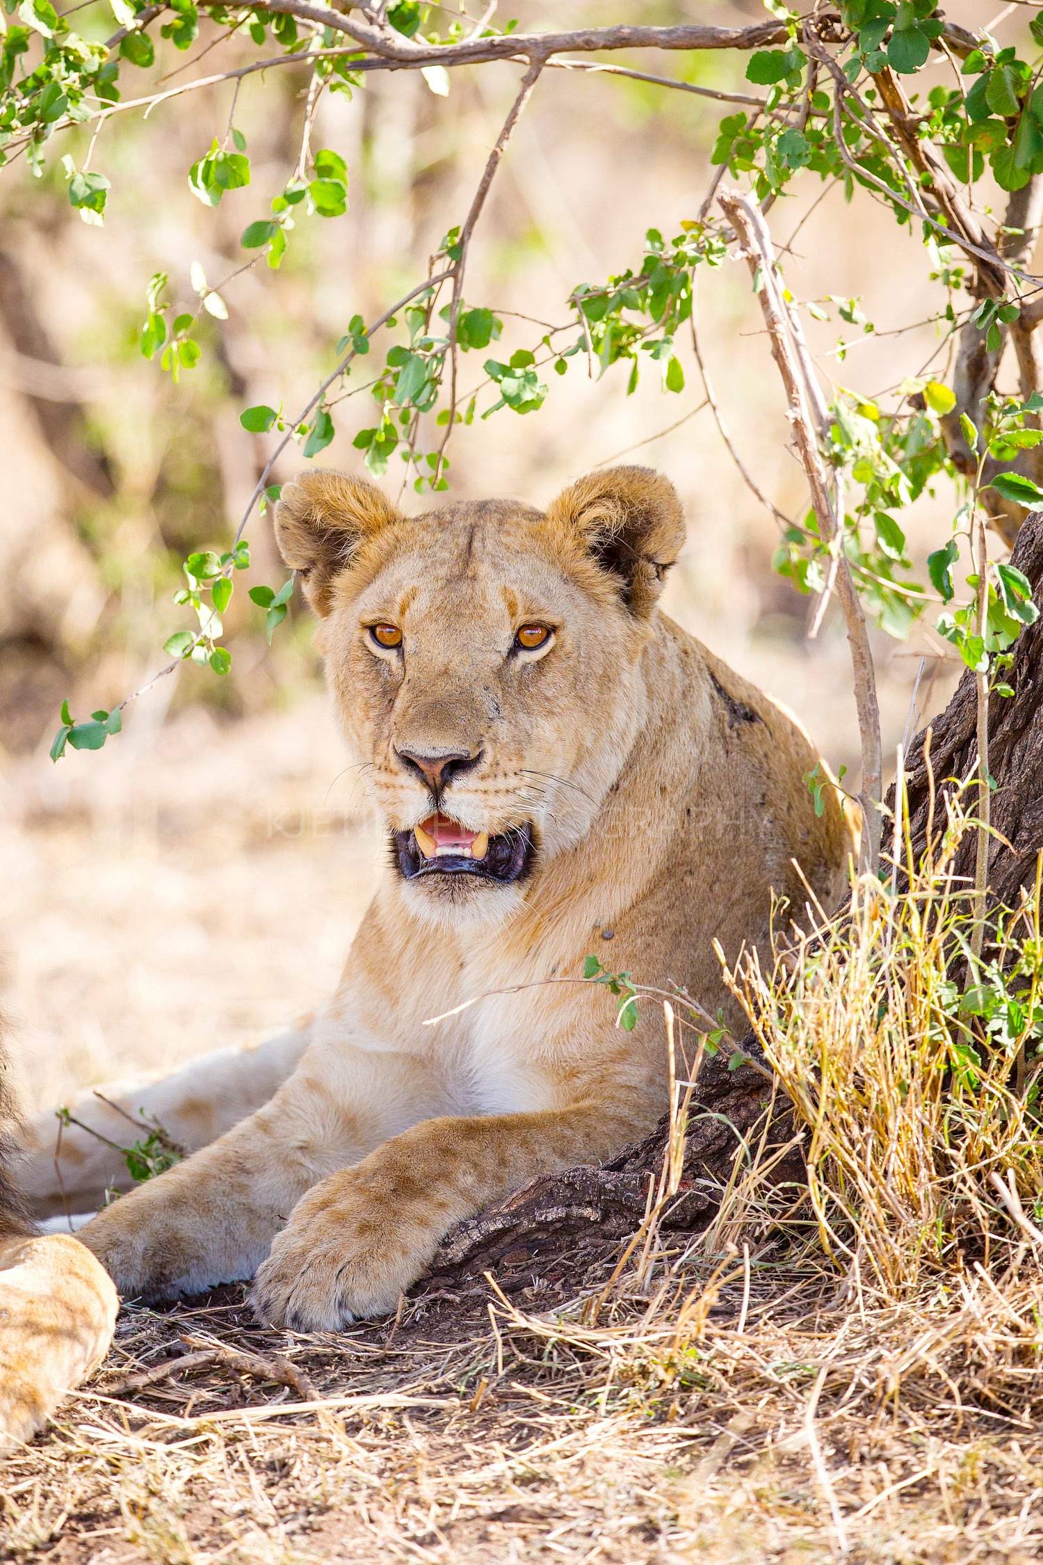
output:
[[649,1128],[597,1103],[424,1121],[300,1200],[256,1274],[255,1308],[299,1332],[394,1310],[455,1222],[536,1174],[610,1157]]

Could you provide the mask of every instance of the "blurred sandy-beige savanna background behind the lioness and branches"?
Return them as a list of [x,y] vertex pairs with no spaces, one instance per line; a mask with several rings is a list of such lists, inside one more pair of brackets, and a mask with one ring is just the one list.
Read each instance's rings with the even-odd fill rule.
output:
[[[629,22],[657,23],[766,16],[758,0],[622,9],[511,0],[508,9],[522,28],[607,25],[624,11]],[[1007,42],[1030,13],[968,0],[948,14]],[[238,63],[235,42],[200,58],[206,28],[188,58],[164,45],[166,85]],[[724,53],[611,63],[747,86],[746,59]],[[239,412],[303,407],[349,319],[372,319],[422,279],[466,214],[519,74],[513,64],[457,70],[446,97],[413,72],[372,74],[350,102],[325,94],[313,147],[347,158],[347,214],[299,222],[280,271],[261,264],[222,290],[228,319],[203,318],[202,363],[178,385],[138,349],[149,279],[169,272],[170,294],[191,308],[192,263],[213,286],[242,264],[242,228],[296,166],[305,69],[242,83],[235,117],[253,182],[216,210],[191,194],[186,172],[224,135],[231,83],[170,97],[145,124],[134,113],[106,124],[92,158],[113,182],[102,228],[80,221],[61,167],[50,166],[72,144],[52,155],[42,180],[23,163],[0,171],[0,1005],[31,1103],[256,1036],[321,1002],[336,980],[383,842],[344,770],[299,603],[269,648],[261,610],[239,590],[227,617],[231,675],[185,665],[128,709],[125,732],[102,753],[67,751],[52,765],[47,750],[66,696],[77,715],[109,707],[164,662],[163,640],[189,623],[172,601],[180,562],[192,548],[227,545],[271,449],[272,437],[242,430]],[[696,216],[724,113],[729,105],[711,99],[608,74],[544,72],[469,263],[468,302],[514,311],[499,347],[539,335],[525,318],[568,319],[577,283],[638,269],[647,227],[671,236]],[[794,189],[769,224],[793,293],[824,305],[827,319],[807,321],[823,376],[887,398],[938,354],[941,338],[923,322],[944,304],[941,288],[927,282],[919,241],[865,194],[844,205],[840,188],[821,200],[810,180]],[[747,269],[704,269],[699,286],[705,365],[732,438],[774,505],[799,520],[805,487]],[[841,321],[830,294],[858,297],[876,330]],[[849,344],[843,357],[838,340]],[[840,617],[830,610],[818,640],[807,639],[808,599],[771,570],[777,523],[743,482],[710,410],[697,412],[699,371],[685,343],[680,354],[680,394],[663,394],[649,365],[627,396],[625,369],[591,380],[577,355],[568,376],[549,377],[541,412],[504,410],[458,429],[452,496],[541,505],[616,459],[663,470],[688,515],[666,610],[790,706],[857,787]],[[485,357],[463,362],[464,390]],[[946,351],[932,363],[944,379]],[[1010,371],[1005,382],[1013,387]],[[361,471],[352,438],[375,412],[366,391],[341,402],[322,465]],[[275,477],[300,465],[291,451]],[[383,480],[392,498],[402,471],[392,457]],[[946,488],[916,507],[918,560],[948,535]],[[432,499],[407,491],[403,504],[427,509]],[[255,516],[247,537],[247,584],[278,585],[285,573],[266,520]],[[923,715],[944,704],[959,668],[924,631],[905,643],[879,634],[876,648],[893,757],[918,675]]]

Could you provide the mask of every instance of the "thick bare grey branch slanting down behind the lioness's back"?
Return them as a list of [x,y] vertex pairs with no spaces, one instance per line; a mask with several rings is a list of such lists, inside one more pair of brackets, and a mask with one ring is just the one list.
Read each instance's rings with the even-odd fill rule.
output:
[[[799,326],[794,329],[793,313],[785,304],[779,279],[774,247],[757,203],[738,191],[721,191],[721,207],[733,224],[743,246],[749,269],[754,277],[754,288],[760,300],[760,308],[771,338],[771,352],[790,404],[788,416],[793,424],[801,463],[812,490],[812,505],[818,520],[819,537],[835,549],[837,557],[837,599],[848,624],[848,645],[851,648],[851,667],[854,671],[855,706],[858,709],[858,732],[862,737],[862,851],[860,867],[876,872],[880,858],[880,798],[882,798],[882,747],[880,747],[880,709],[876,693],[876,671],[865,613],[851,565],[843,548],[843,521],[833,515],[829,498],[826,468],[816,437],[816,426],[821,427],[824,416],[823,393],[818,379],[810,366],[807,347],[804,346]],[[838,535],[840,534],[840,535]]]

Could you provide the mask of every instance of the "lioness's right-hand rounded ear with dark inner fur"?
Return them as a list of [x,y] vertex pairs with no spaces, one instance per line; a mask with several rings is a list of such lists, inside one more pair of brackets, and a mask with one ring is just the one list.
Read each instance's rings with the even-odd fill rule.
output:
[[627,607],[636,615],[652,612],[685,541],[685,516],[669,479],[652,468],[588,473],[558,495],[547,520],[579,529],[602,570],[619,582]]

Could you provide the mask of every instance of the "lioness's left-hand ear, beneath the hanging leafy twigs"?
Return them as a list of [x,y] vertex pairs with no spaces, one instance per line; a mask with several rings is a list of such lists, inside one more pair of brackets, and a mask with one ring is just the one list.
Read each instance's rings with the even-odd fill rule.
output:
[[358,546],[400,512],[375,484],[319,468],[283,484],[275,505],[275,541],[291,570],[300,571],[308,603],[325,615],[332,587]]

